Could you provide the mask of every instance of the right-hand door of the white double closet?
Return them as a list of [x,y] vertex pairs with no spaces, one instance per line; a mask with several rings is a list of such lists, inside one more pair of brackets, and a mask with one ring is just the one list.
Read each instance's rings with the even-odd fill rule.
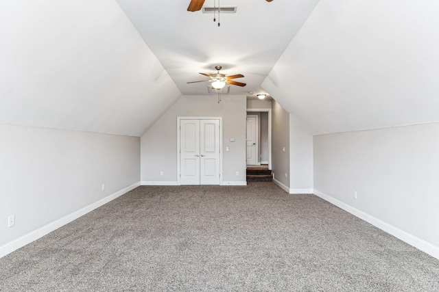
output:
[[219,185],[219,120],[200,120],[200,184]]

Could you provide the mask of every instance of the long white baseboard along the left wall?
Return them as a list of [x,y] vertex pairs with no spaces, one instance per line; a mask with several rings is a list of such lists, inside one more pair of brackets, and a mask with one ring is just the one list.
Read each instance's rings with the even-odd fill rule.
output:
[[132,189],[135,189],[136,187],[139,187],[140,183],[134,183],[134,185],[130,185],[129,187],[126,187],[125,189],[121,189],[120,191],[115,192],[114,194],[111,194],[110,196],[107,196],[105,198],[102,198],[101,200],[98,200],[97,202],[94,202],[92,204],[89,204],[88,206],[79,209],[78,211],[75,211],[73,213],[70,213],[69,215],[66,215],[64,217],[61,217],[58,220],[55,220],[54,222],[50,222],[49,224],[40,227],[34,231],[31,231],[30,233],[27,233],[26,235],[23,235],[22,237],[19,237],[17,239],[14,239],[13,241],[10,241],[8,243],[5,243],[0,246],[0,258],[5,256],[6,254],[10,254],[14,250],[18,250],[19,248],[22,248],[23,246],[27,245],[28,243],[31,243],[32,241],[36,241],[36,239],[39,239],[40,237],[43,237],[52,231],[64,226],[65,224],[68,224],[72,222],[73,220],[78,219],[79,217],[85,215],[88,212],[93,211],[94,209],[101,207],[102,205],[110,202],[111,200],[115,200],[115,198],[118,198],[119,196],[122,196],[123,194],[128,193],[128,191],[131,191]]

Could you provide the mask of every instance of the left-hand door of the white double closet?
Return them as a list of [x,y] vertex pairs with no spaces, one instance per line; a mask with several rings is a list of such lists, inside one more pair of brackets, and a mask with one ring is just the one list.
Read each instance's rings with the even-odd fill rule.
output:
[[180,120],[180,184],[200,185],[200,120]]

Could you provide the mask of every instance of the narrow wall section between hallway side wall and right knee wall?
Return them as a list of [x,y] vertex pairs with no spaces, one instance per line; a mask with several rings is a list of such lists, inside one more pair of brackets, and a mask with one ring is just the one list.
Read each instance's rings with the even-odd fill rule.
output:
[[289,194],[313,194],[313,135],[289,114]]

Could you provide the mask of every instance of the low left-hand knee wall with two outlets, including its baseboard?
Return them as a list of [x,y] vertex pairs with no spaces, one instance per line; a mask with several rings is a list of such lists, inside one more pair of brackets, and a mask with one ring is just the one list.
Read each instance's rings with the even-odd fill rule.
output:
[[140,181],[139,137],[1,124],[0,137],[0,256]]

